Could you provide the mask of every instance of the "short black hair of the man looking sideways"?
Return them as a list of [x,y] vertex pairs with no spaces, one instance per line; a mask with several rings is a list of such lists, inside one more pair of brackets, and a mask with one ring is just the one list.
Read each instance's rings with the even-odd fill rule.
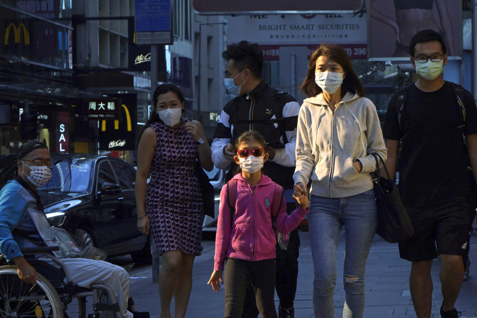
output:
[[240,41],[237,44],[232,44],[222,52],[222,57],[227,61],[234,60],[234,67],[239,72],[249,69],[253,76],[258,79],[262,75],[263,52],[258,43]]

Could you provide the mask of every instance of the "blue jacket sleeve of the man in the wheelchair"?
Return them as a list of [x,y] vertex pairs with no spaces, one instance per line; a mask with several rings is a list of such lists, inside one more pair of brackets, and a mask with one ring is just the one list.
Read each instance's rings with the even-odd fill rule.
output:
[[11,234],[23,220],[28,205],[20,194],[22,190],[21,186],[7,184],[0,192],[0,253],[7,260],[23,256]]

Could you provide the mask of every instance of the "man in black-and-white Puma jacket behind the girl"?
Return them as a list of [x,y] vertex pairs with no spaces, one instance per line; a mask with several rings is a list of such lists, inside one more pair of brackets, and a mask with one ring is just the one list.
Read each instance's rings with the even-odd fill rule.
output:
[[[286,92],[268,86],[260,79],[263,54],[258,44],[241,41],[222,53],[227,61],[224,84],[229,93],[237,95],[222,110],[212,142],[212,161],[220,169],[228,170],[227,180],[235,175],[233,144],[247,130],[260,132],[267,142],[269,159],[263,174],[284,188],[287,212],[295,209],[293,173],[300,104]],[[298,277],[297,229],[290,233],[288,249],[277,247],[276,290],[280,299],[279,318],[293,318]],[[253,288],[247,290],[243,318],[255,318]]]

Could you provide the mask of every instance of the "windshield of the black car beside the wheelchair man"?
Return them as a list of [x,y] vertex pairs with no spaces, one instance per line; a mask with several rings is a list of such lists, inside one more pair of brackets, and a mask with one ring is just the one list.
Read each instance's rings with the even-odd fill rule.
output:
[[84,158],[53,159],[51,179],[38,191],[84,192],[89,185],[91,160]]

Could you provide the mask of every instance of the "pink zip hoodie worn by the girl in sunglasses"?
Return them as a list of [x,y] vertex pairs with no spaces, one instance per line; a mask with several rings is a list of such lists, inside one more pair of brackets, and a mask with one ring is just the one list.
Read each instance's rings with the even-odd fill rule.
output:
[[[214,270],[217,271],[224,270],[226,257],[249,261],[276,257],[276,237],[271,218],[275,182],[262,174],[260,182],[253,189],[240,173],[234,179],[237,179],[237,194],[232,228],[227,184],[220,192],[214,256]],[[275,219],[275,226],[280,233],[290,233],[308,213],[308,209],[301,206],[291,215],[287,215],[286,210],[287,205],[282,197],[282,205]]]

